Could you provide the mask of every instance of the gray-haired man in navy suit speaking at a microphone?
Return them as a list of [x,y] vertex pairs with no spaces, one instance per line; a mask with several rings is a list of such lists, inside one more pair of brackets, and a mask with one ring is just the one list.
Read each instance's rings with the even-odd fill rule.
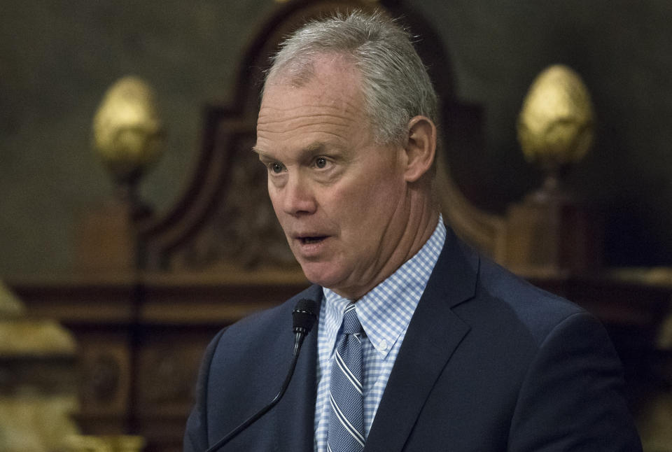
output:
[[314,22],[283,45],[254,150],[314,285],[214,339],[186,450],[272,400],[302,298],[318,320],[286,395],[223,450],[640,450],[601,325],[444,226],[436,110],[407,34],[382,15]]

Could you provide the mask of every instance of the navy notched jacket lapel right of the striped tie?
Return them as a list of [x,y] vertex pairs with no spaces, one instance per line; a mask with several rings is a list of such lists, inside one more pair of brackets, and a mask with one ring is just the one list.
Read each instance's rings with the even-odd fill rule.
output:
[[468,333],[451,308],[475,294],[478,257],[451,233],[395,360],[365,451],[401,451],[435,381]]

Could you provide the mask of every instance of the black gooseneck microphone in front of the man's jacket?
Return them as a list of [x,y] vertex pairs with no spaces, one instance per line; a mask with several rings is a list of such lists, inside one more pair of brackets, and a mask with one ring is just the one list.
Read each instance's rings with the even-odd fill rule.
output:
[[285,395],[285,391],[289,386],[289,382],[291,381],[292,376],[294,375],[294,368],[296,367],[296,361],[299,358],[299,352],[301,351],[303,339],[305,339],[306,335],[310,332],[317,318],[317,315],[315,313],[316,305],[317,305],[316,302],[314,302],[313,300],[302,298],[299,300],[296,306],[294,306],[294,311],[292,311],[292,323],[293,323],[292,328],[294,331],[294,353],[292,357],[292,363],[289,367],[289,372],[285,377],[285,381],[282,383],[278,395],[274,397],[271,403],[267,404],[265,407],[257,411],[252,416],[250,416],[247,419],[247,421],[241,423],[241,425],[238,425],[237,428],[231,430],[228,433],[228,435],[220,439],[205,452],[214,452],[217,449],[221,448],[222,446],[230,442],[232,439],[237,437],[240,432],[248,428],[256,421],[258,421],[258,419],[261,416],[265,415],[270,409],[275,407],[278,402],[280,402],[280,399],[282,398],[283,395]]

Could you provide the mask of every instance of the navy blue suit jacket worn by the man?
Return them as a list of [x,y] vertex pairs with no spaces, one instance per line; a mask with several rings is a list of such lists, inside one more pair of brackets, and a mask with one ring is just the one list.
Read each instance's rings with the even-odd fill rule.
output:
[[[204,451],[270,402],[293,351],[291,311],[319,286],[212,341],[187,423]],[[281,402],[223,451],[312,451],[317,334]],[[449,230],[365,451],[635,452],[620,363],[597,320],[521,281]]]

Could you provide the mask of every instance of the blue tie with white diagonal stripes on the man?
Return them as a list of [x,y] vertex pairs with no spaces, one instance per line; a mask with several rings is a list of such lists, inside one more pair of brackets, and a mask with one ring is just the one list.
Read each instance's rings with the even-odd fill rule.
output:
[[331,368],[329,452],[359,452],[364,449],[362,332],[355,304],[351,303],[343,315],[343,333]]

